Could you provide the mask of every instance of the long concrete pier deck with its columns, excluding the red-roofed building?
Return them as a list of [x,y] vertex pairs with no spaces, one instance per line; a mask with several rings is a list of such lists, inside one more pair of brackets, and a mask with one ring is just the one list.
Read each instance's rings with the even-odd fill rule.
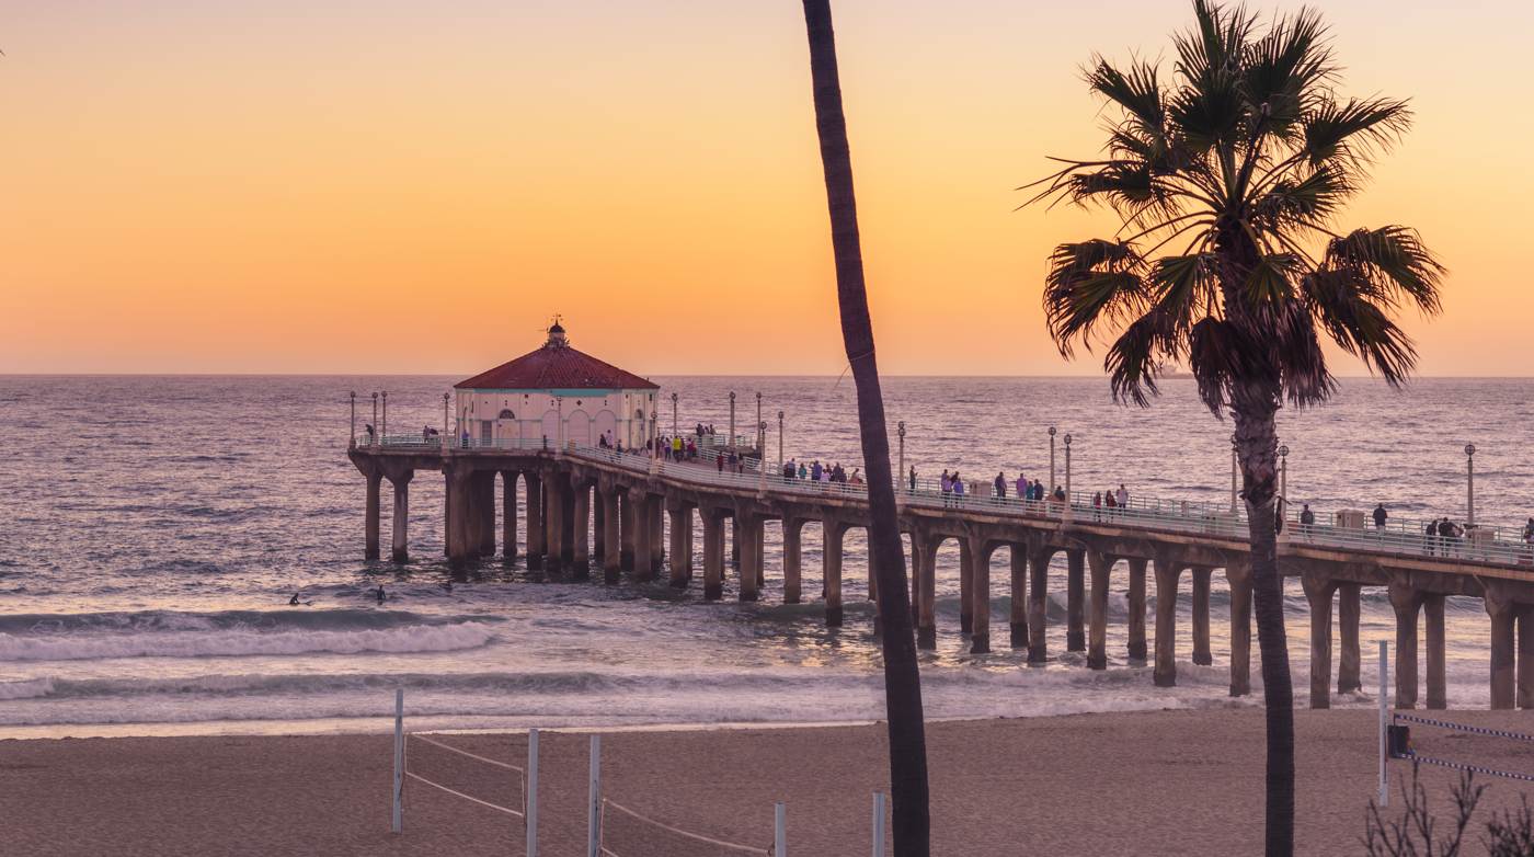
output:
[[[367,555],[379,557],[380,486],[393,486],[391,552],[408,553],[410,484],[417,471],[446,480],[446,553],[468,564],[497,553],[495,504],[502,506],[500,555],[526,558],[529,569],[583,578],[592,564],[607,584],[627,573],[635,583],[666,573],[670,586],[693,586],[693,547],[703,540],[703,596],[724,590],[726,547],[738,555],[739,598],[765,593],[764,524],[782,530],[781,599],[804,598],[801,543],[804,526],[818,521],[822,550],[825,622],[841,626],[842,540],[868,520],[864,486],[788,480],[752,461],[749,472],[721,472],[707,451],[698,461],[673,461],[555,440],[445,442],[436,437],[380,437],[354,445],[348,455],[367,480]],[[497,478],[499,477],[499,478]],[[499,488],[499,497],[497,497]],[[526,509],[526,543],[517,544],[517,495]],[[1045,601],[1051,560],[1068,564],[1068,650],[1086,652],[1089,668],[1106,668],[1108,595],[1117,575],[1127,589],[1131,662],[1154,661],[1157,685],[1177,681],[1177,598],[1183,575],[1192,578],[1195,664],[1212,664],[1209,587],[1224,573],[1230,587],[1230,694],[1250,693],[1252,575],[1247,524],[1238,514],[1210,512],[1181,503],[1138,501],[1129,507],[1094,507],[1088,497],[1071,501],[1022,501],[956,497],[931,486],[897,486],[900,530],[911,550],[911,604],[917,642],[937,639],[934,592],[937,549],[960,547],[960,624],[973,653],[999,644],[991,629],[992,553],[1006,550],[1011,616],[1006,639],[1026,648],[1029,664],[1048,658]],[[663,515],[670,544],[663,544]],[[1490,535],[1490,534],[1488,534]],[[666,558],[670,558],[667,563]],[[1362,687],[1359,598],[1382,587],[1396,612],[1396,707],[1442,708],[1447,701],[1443,598],[1467,595],[1485,603],[1491,622],[1490,682],[1493,708],[1534,707],[1534,553],[1523,543],[1482,538],[1450,543],[1408,530],[1345,526],[1304,527],[1290,521],[1278,540],[1278,564],[1299,578],[1310,603],[1310,705],[1325,708],[1336,690]],[[1147,580],[1147,572],[1154,572]],[[1147,584],[1154,586],[1154,633],[1147,633]],[[873,580],[870,578],[870,589]],[[1333,619],[1335,615],[1335,619]],[[1422,629],[1419,642],[1419,627]],[[1155,650],[1150,652],[1149,642]],[[1427,648],[1427,693],[1419,698],[1419,652]]]

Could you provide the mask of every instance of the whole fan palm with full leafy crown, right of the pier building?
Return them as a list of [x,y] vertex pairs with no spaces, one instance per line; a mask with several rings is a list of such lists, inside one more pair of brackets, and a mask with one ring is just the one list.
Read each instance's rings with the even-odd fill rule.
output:
[[1043,304],[1062,354],[1111,342],[1114,397],[1140,406],[1161,363],[1186,360],[1203,403],[1235,423],[1267,708],[1267,854],[1287,855],[1295,736],[1273,419],[1336,389],[1321,333],[1399,386],[1416,351],[1393,316],[1407,304],[1437,313],[1445,271],[1410,228],[1335,228],[1371,158],[1407,129],[1407,103],[1338,95],[1315,11],[1261,25],[1244,6],[1195,0],[1193,15],[1174,35],[1170,75],[1094,57],[1086,83],[1114,109],[1104,155],[1057,159],[1029,202],[1106,205],[1121,221],[1112,238],[1062,244],[1049,259]]

